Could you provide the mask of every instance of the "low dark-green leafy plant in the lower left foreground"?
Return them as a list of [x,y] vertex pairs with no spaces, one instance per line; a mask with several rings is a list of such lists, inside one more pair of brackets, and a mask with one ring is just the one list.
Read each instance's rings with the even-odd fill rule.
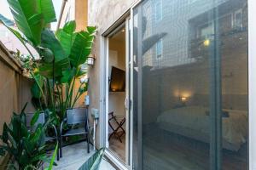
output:
[[[25,107],[20,114],[14,113],[9,125],[3,124],[3,134],[1,139],[3,144],[0,145],[0,156],[6,152],[13,156],[19,169],[32,169],[40,167],[43,161],[47,161],[44,150],[44,125],[38,124],[34,131],[26,127]],[[32,117],[32,125],[38,120],[36,113]]]

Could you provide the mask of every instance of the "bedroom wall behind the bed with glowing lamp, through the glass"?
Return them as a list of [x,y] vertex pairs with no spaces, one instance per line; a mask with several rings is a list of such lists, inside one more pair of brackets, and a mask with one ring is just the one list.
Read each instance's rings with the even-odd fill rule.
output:
[[[243,47],[241,47],[243,48]],[[224,109],[247,111],[247,54],[246,50],[223,51],[222,53],[222,100]],[[180,97],[186,97],[186,105],[209,105],[209,68],[207,63],[194,66],[183,65],[155,71],[144,67],[143,85],[148,96],[143,103],[152,103],[144,107],[148,112],[144,123],[156,122],[161,112],[181,105]],[[150,76],[145,76],[145,75]],[[154,76],[153,76],[154,75]],[[159,83],[162,82],[162,83]],[[230,88],[231,87],[231,88]]]

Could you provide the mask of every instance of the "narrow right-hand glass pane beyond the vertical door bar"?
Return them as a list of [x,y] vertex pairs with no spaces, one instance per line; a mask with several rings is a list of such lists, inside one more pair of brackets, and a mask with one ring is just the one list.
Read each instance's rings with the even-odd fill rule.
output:
[[247,169],[247,1],[228,1],[220,5],[218,11],[223,108],[222,167]]

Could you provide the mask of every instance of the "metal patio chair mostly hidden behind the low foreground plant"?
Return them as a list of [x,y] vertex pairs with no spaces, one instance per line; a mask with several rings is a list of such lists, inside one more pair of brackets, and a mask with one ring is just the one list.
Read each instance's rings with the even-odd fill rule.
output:
[[[45,123],[45,113],[44,112],[40,112],[40,114],[38,116],[38,121],[32,127],[30,122],[32,121],[32,117],[33,116],[34,116],[34,113],[26,113],[26,127],[29,130],[35,130],[35,128],[38,126],[38,124],[42,124],[43,125]],[[58,142],[57,129],[56,129],[55,125],[53,125],[52,123],[49,123],[49,126],[54,129],[55,136],[54,137],[45,136],[45,142],[55,140],[55,142],[57,143]],[[57,152],[57,160],[58,161],[60,160],[59,152]]]

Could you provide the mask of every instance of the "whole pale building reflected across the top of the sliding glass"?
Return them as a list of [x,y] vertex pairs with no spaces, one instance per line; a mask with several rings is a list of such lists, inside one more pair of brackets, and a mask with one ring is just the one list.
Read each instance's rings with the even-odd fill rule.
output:
[[[190,0],[189,3],[183,3],[180,0],[172,2],[149,0],[144,3],[143,17],[146,20],[146,28],[143,39],[159,32],[167,34],[143,55],[143,65],[165,68],[186,65],[203,58],[210,50],[213,40],[214,20],[212,19],[215,17],[212,11],[216,8],[219,13],[218,35],[222,41],[236,42],[239,40],[241,43],[247,41],[245,32],[247,7],[244,5],[247,4],[246,1],[218,0],[215,1],[217,3],[212,2],[212,0]],[[220,45],[225,50],[232,48],[231,43]],[[160,48],[162,48],[161,57]]]

